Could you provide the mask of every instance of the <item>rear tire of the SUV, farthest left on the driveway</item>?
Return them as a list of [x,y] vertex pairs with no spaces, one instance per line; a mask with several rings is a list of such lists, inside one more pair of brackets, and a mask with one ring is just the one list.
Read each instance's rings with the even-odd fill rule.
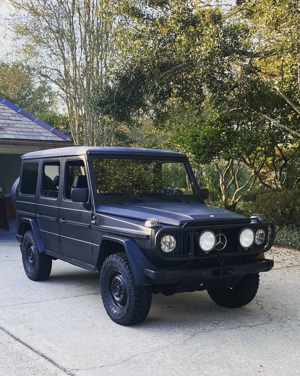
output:
[[[32,261],[30,255],[32,253]],[[22,240],[22,261],[27,277],[33,281],[45,280],[52,268],[52,259],[45,252],[39,252],[32,231],[27,231]]]

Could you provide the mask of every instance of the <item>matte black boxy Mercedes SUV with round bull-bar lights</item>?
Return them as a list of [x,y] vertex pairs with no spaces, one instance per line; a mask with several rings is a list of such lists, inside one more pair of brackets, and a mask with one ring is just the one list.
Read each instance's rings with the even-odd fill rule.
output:
[[255,297],[275,229],[205,205],[187,157],[116,147],[66,147],[22,157],[12,189],[25,272],[49,277],[52,260],[101,273],[110,318],[144,320],[152,293],[207,290],[221,306]]

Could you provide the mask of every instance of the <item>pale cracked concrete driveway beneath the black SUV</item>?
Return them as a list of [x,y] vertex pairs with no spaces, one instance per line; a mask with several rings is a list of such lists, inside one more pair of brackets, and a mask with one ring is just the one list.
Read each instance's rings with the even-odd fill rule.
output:
[[299,252],[273,249],[257,299],[221,308],[203,292],[154,295],[148,318],[107,316],[99,274],[54,261],[26,277],[17,243],[0,243],[0,375],[299,375]]

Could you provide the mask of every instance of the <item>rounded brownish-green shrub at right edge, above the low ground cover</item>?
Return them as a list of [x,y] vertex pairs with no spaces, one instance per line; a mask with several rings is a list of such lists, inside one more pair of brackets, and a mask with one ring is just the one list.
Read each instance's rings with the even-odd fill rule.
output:
[[259,213],[278,226],[300,227],[300,192],[297,190],[252,190],[243,196],[243,210]]

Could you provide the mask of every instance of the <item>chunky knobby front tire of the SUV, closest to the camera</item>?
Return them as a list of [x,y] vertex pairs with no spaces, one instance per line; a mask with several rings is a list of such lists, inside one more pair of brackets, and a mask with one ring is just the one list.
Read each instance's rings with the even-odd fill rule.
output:
[[[117,273],[126,283],[122,285],[126,299],[119,307],[113,298],[113,281],[110,282]],[[135,285],[126,253],[115,253],[105,259],[101,268],[101,296],[107,314],[120,325],[132,325],[145,320],[151,308],[151,287]]]

